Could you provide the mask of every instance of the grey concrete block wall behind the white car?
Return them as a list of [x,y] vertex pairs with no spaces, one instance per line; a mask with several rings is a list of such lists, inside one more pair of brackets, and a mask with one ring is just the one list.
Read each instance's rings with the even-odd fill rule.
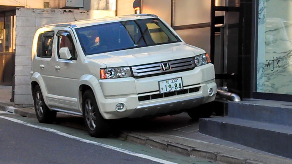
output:
[[115,16],[115,11],[16,8],[14,104],[33,104],[30,90],[32,40],[44,25]]

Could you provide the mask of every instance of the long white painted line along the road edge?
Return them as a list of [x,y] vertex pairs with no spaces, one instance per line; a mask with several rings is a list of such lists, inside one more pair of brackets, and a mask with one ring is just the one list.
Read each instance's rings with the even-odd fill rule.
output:
[[30,123],[26,123],[24,121],[17,120],[15,118],[10,118],[10,117],[5,117],[5,116],[0,116],[0,118],[4,118],[6,120],[13,121],[13,122],[16,122],[16,123],[20,123],[22,125],[27,125],[27,126],[30,126],[30,127],[33,127],[33,128],[37,128],[37,129],[41,129],[41,130],[46,130],[48,132],[52,132],[52,133],[55,133],[55,134],[58,134],[58,135],[62,135],[64,137],[68,137],[68,138],[71,138],[71,139],[75,139],[75,140],[78,140],[78,141],[81,141],[81,142],[85,142],[85,143],[89,143],[89,144],[94,144],[94,145],[97,145],[97,146],[102,146],[102,147],[105,147],[107,149],[112,149],[112,150],[115,150],[115,151],[119,151],[119,152],[122,152],[122,153],[126,153],[126,154],[129,154],[129,155],[132,155],[132,156],[137,156],[137,157],[140,157],[140,158],[149,159],[149,160],[152,160],[154,162],[159,162],[159,163],[164,163],[164,164],[176,164],[176,163],[173,163],[173,162],[169,162],[167,160],[155,158],[155,157],[152,157],[152,156],[147,156],[145,154],[135,153],[133,151],[128,151],[128,150],[121,149],[121,148],[118,148],[118,147],[114,147],[114,146],[110,146],[110,145],[106,145],[106,144],[101,144],[101,143],[94,142],[94,141],[90,141],[90,140],[87,140],[87,139],[75,137],[73,135],[68,135],[66,133],[60,132],[58,130],[54,130],[54,129],[50,129],[50,128],[45,128],[45,127],[38,126],[38,125],[33,125],[33,124],[30,124]]

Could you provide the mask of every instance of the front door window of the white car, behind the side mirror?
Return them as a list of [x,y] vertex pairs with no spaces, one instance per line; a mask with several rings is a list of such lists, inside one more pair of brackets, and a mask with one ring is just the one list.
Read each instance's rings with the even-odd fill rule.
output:
[[77,60],[77,52],[74,46],[72,36],[67,31],[59,31],[58,36],[58,58],[60,58],[59,50],[62,47],[68,47],[71,55],[73,56],[72,60]]

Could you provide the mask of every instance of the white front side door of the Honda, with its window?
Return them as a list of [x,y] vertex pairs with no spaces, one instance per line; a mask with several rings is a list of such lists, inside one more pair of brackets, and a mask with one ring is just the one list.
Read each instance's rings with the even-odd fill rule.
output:
[[[75,37],[69,28],[63,28],[57,32],[58,42],[56,47],[56,62],[54,63],[54,75],[58,90],[58,105],[61,109],[69,111],[79,111],[77,98],[78,98],[78,61],[77,52],[75,48]],[[75,43],[74,43],[75,41]],[[59,50],[62,47],[69,48],[72,58],[61,59]]]

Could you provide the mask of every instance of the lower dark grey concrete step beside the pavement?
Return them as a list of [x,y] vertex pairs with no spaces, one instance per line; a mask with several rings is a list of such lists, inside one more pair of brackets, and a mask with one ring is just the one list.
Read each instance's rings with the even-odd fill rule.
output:
[[199,132],[261,151],[292,158],[292,127],[218,117],[201,118]]

